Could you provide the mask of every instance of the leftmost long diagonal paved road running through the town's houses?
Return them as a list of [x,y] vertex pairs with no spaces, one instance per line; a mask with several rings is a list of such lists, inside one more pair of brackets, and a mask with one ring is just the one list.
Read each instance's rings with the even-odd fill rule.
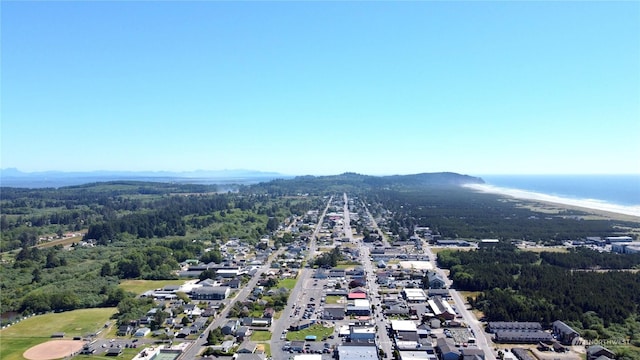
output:
[[247,297],[251,293],[251,290],[256,286],[258,280],[260,280],[260,275],[269,270],[269,268],[271,267],[271,262],[283,252],[284,248],[280,248],[278,251],[271,254],[269,260],[264,265],[262,265],[260,269],[258,269],[258,272],[253,276],[253,278],[251,278],[251,280],[249,280],[245,287],[243,287],[238,293],[236,293],[235,297],[223,301],[223,303],[225,304],[224,309],[222,309],[222,311],[216,316],[211,324],[209,324],[209,326],[202,332],[203,334],[205,334],[205,336],[193,341],[187,348],[187,350],[185,350],[182,355],[178,357],[179,360],[192,360],[198,357],[198,354],[203,350],[202,347],[207,342],[206,336],[209,331],[217,327],[224,326],[227,320],[229,320],[227,319],[227,314],[229,314],[229,310],[231,310],[233,304],[235,304],[236,301],[242,302],[247,299]]

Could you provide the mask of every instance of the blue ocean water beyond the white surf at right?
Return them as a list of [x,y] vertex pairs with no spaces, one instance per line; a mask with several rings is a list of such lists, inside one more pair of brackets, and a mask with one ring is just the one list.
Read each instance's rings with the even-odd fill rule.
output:
[[640,205],[638,175],[481,175],[487,185],[575,200]]

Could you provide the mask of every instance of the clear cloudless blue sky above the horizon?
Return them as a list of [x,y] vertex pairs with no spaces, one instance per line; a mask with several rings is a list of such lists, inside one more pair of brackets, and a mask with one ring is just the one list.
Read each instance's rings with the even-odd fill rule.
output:
[[640,3],[2,2],[2,168],[640,173]]

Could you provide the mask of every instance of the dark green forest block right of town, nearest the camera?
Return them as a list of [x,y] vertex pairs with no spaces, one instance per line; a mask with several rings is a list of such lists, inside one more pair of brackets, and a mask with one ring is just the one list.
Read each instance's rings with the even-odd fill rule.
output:
[[537,254],[503,244],[440,251],[438,264],[449,269],[457,289],[480,292],[469,301],[488,321],[540,321],[548,326],[562,319],[577,329],[592,330],[586,333],[591,338],[605,339],[612,336],[613,325],[627,324],[631,340],[640,344],[640,273],[585,270],[640,270],[638,256],[589,249]]

